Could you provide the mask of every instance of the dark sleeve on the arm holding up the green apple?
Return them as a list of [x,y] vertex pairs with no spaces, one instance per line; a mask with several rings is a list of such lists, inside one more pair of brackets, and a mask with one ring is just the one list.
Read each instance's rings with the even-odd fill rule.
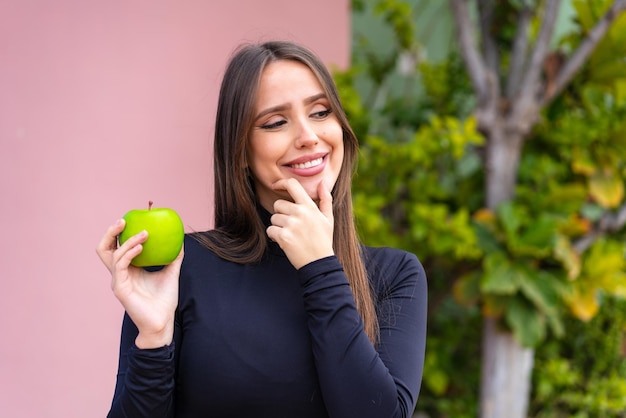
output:
[[124,314],[117,382],[107,417],[173,417],[176,342],[142,350],[135,346],[137,334]]

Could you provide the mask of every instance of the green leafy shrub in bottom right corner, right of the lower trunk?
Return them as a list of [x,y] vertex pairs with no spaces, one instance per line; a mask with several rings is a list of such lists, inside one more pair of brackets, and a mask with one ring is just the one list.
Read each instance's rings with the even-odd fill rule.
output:
[[626,417],[626,301],[607,298],[589,322],[537,349],[531,416]]

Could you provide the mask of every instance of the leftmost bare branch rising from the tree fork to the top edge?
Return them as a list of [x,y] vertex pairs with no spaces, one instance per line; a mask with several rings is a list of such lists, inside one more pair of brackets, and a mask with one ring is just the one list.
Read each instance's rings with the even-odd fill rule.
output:
[[485,63],[476,48],[472,23],[467,9],[467,0],[450,0],[450,8],[457,29],[461,55],[478,97],[478,106],[484,105],[489,96],[489,84],[485,77]]

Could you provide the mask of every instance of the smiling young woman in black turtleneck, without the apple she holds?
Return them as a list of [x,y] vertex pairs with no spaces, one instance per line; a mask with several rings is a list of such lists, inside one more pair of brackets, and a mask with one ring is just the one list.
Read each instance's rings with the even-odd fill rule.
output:
[[122,220],[98,245],[126,311],[109,417],[412,415],[426,276],[410,253],[359,243],[357,145],[311,51],[236,52],[217,110],[215,229],[152,272],[130,265],[145,232],[117,246]]

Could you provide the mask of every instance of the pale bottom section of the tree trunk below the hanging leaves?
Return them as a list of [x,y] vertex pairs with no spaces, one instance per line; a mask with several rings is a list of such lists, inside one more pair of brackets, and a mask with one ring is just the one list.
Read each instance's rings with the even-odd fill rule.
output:
[[485,318],[483,328],[481,418],[526,418],[535,352]]

